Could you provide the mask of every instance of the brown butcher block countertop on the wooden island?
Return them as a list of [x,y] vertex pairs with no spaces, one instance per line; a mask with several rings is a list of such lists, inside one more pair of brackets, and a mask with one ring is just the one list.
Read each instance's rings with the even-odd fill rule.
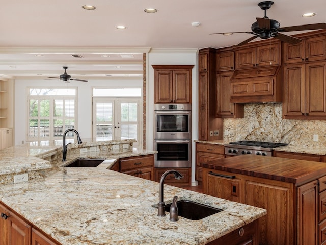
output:
[[326,175],[326,163],[257,155],[228,157],[201,163],[200,166],[295,185]]

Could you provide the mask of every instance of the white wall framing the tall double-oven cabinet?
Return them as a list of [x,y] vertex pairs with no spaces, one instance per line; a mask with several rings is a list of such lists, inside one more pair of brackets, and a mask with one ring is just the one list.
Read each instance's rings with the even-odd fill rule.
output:
[[154,69],[152,65],[194,65],[192,70],[192,184],[195,184],[195,143],[198,139],[198,50],[152,49],[147,58],[147,138],[146,148],[154,148]]

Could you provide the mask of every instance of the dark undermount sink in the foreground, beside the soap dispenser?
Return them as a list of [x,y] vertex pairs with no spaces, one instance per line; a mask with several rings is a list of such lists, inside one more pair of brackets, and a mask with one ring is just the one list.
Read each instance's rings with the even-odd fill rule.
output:
[[[170,211],[170,204],[165,205],[165,211]],[[205,217],[208,217],[212,214],[223,211],[219,208],[213,208],[204,204],[196,203],[189,200],[180,200],[177,201],[177,207],[179,216],[191,219],[191,220],[199,220]]]

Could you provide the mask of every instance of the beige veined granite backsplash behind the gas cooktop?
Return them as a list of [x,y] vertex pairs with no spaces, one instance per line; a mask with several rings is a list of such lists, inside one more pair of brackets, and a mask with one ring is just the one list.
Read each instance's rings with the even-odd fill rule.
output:
[[[313,141],[313,135],[318,141]],[[224,140],[256,140],[294,146],[326,146],[326,120],[282,118],[282,103],[245,104],[244,118],[224,119]]]

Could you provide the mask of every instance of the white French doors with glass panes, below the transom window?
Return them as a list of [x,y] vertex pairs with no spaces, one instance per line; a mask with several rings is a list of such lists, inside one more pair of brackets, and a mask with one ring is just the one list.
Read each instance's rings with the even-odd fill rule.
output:
[[93,97],[93,138],[136,139],[140,145],[140,98]]

